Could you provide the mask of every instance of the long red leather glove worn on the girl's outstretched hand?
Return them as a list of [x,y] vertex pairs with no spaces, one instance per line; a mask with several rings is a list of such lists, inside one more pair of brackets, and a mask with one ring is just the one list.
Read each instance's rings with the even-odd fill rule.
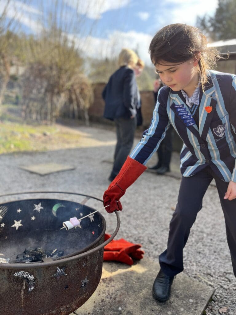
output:
[[110,183],[103,195],[103,204],[108,213],[115,210],[122,210],[120,198],[125,194],[126,189],[147,169],[138,161],[127,157],[119,174]]

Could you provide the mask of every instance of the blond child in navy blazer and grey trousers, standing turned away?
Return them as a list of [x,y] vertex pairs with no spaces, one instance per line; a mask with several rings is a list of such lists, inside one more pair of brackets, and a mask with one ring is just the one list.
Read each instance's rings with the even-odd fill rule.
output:
[[104,117],[114,120],[117,136],[110,181],[119,173],[133,145],[137,126],[138,87],[134,72],[137,63],[138,56],[133,50],[122,49],[118,57],[120,68],[111,75],[102,93]]

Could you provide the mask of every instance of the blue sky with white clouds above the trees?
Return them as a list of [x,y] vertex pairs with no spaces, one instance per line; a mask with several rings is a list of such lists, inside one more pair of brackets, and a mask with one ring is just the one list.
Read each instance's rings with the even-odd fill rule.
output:
[[[140,57],[150,63],[149,43],[155,32],[172,23],[195,26],[197,15],[213,15],[217,0],[59,0],[65,21],[81,22],[75,30],[67,30],[85,56],[104,58],[116,56],[123,48],[137,49]],[[6,0],[0,0],[0,7]],[[42,5],[39,5],[39,4]],[[22,30],[38,33],[41,29],[42,7],[45,11],[55,0],[11,0],[8,16],[16,16]],[[1,10],[1,9],[0,9]],[[76,15],[75,15],[76,14]],[[77,26],[79,23],[77,24]],[[92,27],[92,32],[89,30]]]

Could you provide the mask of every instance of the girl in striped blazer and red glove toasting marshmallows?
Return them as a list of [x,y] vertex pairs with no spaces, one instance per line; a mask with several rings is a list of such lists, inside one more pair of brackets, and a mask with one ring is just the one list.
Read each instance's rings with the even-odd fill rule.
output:
[[236,76],[210,70],[220,57],[193,26],[165,26],[153,37],[149,52],[165,86],[158,93],[149,129],[104,192],[104,206],[109,213],[122,210],[120,198],[146,169],[172,125],[184,142],[183,176],[167,249],[159,256],[160,272],[153,284],[154,298],[167,301],[175,275],[183,271],[183,248],[213,178],[236,276]]

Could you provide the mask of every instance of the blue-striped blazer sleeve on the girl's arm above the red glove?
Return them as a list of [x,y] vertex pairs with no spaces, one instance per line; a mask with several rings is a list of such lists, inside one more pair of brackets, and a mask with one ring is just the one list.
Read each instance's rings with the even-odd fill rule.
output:
[[130,154],[131,158],[143,165],[157,151],[161,141],[165,138],[166,130],[171,125],[166,111],[166,102],[163,102],[161,99],[160,92],[161,90],[158,92],[157,103],[153,111],[150,127],[143,133],[143,138]]

